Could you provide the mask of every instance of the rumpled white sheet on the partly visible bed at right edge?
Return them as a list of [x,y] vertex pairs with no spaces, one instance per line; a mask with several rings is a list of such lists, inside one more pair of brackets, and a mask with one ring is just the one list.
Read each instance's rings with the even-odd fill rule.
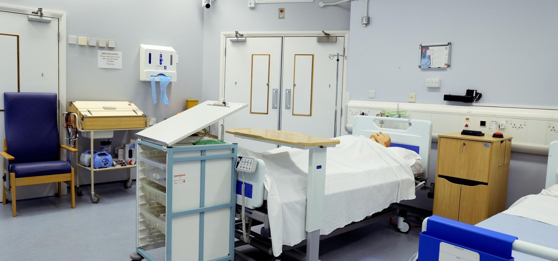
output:
[[542,190],[538,195],[522,197],[502,213],[558,226],[558,185]]

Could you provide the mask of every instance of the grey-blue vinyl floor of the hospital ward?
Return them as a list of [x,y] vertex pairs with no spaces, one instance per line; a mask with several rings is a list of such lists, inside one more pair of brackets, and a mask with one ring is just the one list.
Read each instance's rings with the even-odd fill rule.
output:
[[[0,206],[0,260],[130,260],[136,242],[135,182],[128,190],[122,183],[95,186],[98,204],[89,201],[89,192],[83,187],[75,209],[70,195],[17,201],[17,217],[9,203]],[[401,234],[381,221],[321,241],[320,260],[407,261],[417,251],[419,233],[413,228]],[[272,260],[251,246],[239,249],[256,260]]]

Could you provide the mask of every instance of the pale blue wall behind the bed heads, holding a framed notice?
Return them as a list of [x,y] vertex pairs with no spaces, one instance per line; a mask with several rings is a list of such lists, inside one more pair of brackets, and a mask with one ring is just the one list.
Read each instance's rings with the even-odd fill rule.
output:
[[[407,102],[416,93],[417,103],[446,104],[444,94],[477,89],[484,103],[558,105],[556,1],[374,0],[367,27],[359,21],[363,8],[364,1],[352,2],[347,90],[353,100]],[[450,68],[418,68],[420,43],[448,41]],[[426,88],[426,78],[440,78],[441,88]],[[376,90],[376,99],[368,90]],[[512,153],[507,206],[540,192],[546,162],[546,156]],[[432,208],[425,191],[404,203]]]

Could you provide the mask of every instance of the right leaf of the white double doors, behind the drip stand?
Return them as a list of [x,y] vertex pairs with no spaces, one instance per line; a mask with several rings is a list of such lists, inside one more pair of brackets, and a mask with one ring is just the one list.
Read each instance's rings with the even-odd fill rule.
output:
[[317,42],[316,37],[285,37],[281,130],[334,137],[335,98],[337,91],[340,101],[344,60],[339,60],[336,90],[337,62],[329,59],[329,55],[343,54],[344,42],[344,37],[337,37],[336,42]]

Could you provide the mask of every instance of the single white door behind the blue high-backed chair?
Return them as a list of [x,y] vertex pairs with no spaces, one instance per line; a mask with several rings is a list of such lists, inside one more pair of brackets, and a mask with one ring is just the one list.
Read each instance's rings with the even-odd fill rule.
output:
[[[28,21],[27,14],[0,11],[0,141],[4,132],[4,92],[59,93],[58,18]],[[17,199],[51,196],[56,183],[18,188]],[[9,198],[9,195],[8,195]]]

